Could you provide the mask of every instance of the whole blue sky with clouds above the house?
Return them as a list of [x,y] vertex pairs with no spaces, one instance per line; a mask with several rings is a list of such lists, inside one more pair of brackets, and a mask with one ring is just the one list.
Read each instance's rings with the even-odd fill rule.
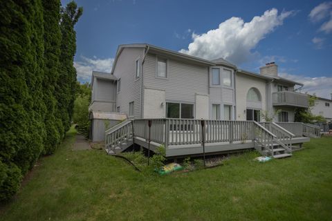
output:
[[332,93],[332,1],[76,2],[84,8],[75,26],[82,82],[91,70],[110,72],[119,44],[149,43],[256,73],[275,61],[281,76],[306,85],[302,92]]

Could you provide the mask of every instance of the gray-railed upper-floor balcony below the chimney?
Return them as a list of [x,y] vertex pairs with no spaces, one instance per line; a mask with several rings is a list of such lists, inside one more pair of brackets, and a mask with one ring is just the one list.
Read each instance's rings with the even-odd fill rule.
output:
[[273,106],[296,106],[308,108],[308,95],[293,91],[273,93]]

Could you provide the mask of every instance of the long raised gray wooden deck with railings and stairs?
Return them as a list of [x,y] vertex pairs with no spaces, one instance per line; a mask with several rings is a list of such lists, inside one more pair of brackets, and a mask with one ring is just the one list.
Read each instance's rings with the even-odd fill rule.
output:
[[163,145],[166,157],[212,155],[256,148],[263,155],[275,157],[284,153],[291,155],[294,145],[309,142],[309,137],[319,135],[316,126],[303,123],[133,119],[106,131],[105,146],[107,153],[114,154],[133,143],[150,151]]

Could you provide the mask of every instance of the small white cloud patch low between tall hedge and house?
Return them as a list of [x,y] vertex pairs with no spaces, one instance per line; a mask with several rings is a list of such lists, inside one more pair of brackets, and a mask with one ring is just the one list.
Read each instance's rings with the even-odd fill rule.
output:
[[113,58],[98,59],[93,56],[93,59],[81,56],[82,61],[74,61],[74,67],[77,71],[77,79],[81,81],[91,81],[93,70],[100,72],[111,73]]

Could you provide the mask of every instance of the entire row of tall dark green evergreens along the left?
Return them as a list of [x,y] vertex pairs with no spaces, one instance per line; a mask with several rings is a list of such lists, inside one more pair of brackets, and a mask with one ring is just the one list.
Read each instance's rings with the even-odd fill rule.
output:
[[[76,82],[73,28],[80,15],[75,2],[62,13],[59,0],[1,2],[0,201],[18,191],[22,177],[40,155],[55,151],[70,126]],[[72,22],[63,22],[66,17]],[[71,44],[64,48],[65,42]]]

